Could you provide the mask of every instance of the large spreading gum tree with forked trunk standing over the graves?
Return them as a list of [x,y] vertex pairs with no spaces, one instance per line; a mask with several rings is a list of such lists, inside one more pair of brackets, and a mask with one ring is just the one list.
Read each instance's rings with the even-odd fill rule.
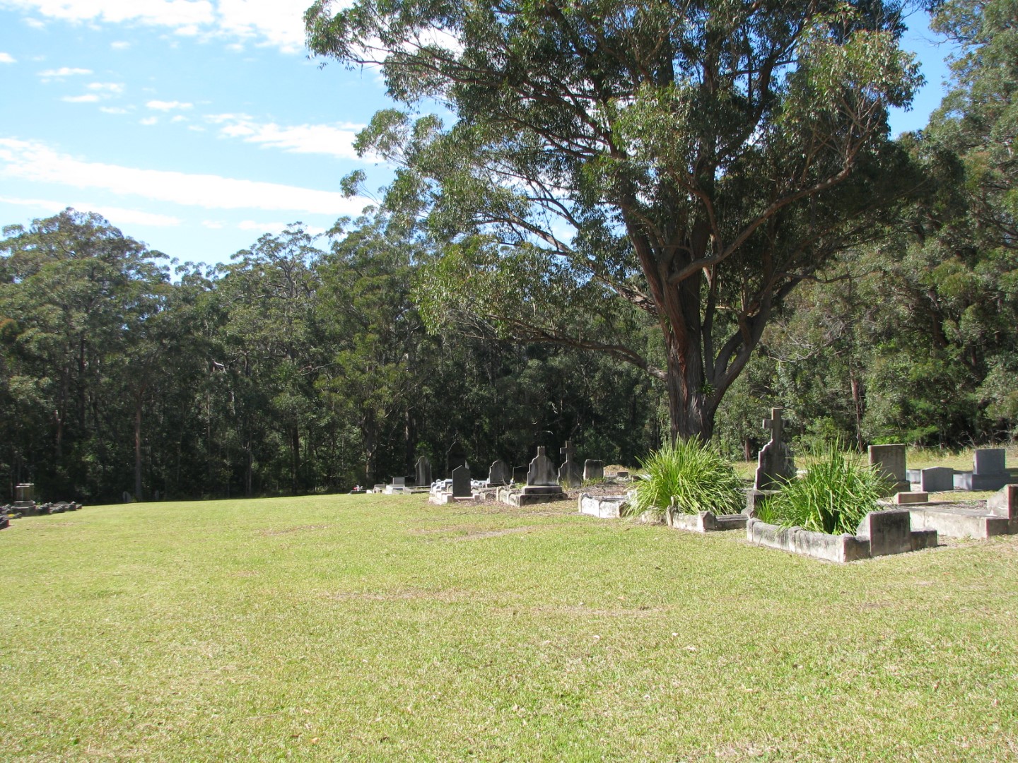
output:
[[[313,52],[380,66],[407,107],[357,148],[399,168],[386,204],[448,242],[418,284],[426,320],[632,362],[667,387],[673,439],[711,436],[782,299],[914,187],[887,124],[920,81],[900,19],[880,0],[305,14]],[[663,363],[625,331],[640,314]]]

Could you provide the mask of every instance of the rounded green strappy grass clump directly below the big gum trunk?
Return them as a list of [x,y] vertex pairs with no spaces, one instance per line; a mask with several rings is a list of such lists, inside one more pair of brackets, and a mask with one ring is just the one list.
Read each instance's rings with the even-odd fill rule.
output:
[[710,443],[679,441],[640,462],[646,474],[635,485],[631,514],[662,518],[668,512],[730,514],[742,508],[742,481]]

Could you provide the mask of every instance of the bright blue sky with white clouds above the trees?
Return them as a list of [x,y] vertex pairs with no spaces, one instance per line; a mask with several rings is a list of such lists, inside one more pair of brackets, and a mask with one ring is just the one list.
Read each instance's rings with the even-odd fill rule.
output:
[[[362,168],[351,142],[390,105],[374,71],[308,60],[309,0],[0,0],[0,224],[98,212],[181,261],[221,262],[294,221],[328,229]],[[914,14],[927,84],[897,134],[940,103],[947,51]]]

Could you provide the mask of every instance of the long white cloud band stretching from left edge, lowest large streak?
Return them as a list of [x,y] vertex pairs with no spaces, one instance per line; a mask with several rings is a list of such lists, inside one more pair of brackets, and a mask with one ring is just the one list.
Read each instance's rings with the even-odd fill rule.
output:
[[58,154],[38,141],[13,138],[0,138],[0,177],[101,188],[207,210],[268,210],[339,217],[358,215],[370,203],[337,191],[86,162]]

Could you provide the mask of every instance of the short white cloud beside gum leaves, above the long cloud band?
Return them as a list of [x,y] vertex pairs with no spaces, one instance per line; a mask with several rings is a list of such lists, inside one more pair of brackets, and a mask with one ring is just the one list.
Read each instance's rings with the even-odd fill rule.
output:
[[288,154],[325,154],[338,159],[358,159],[353,140],[357,131],[363,128],[361,124],[349,123],[260,124],[243,114],[214,114],[206,120],[221,124],[219,134],[224,137],[238,137],[246,143],[279,149]]

